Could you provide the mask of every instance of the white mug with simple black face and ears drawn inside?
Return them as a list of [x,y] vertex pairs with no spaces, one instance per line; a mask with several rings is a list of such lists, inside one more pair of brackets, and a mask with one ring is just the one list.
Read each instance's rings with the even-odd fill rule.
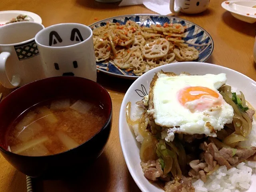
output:
[[92,30],[88,26],[52,25],[38,32],[35,40],[46,77],[78,76],[96,81]]

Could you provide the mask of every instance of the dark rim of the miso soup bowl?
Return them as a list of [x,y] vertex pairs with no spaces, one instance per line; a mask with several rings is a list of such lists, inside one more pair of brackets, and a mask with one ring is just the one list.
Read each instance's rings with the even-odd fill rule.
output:
[[[96,137],[96,136],[97,136],[100,132],[102,132],[102,130],[104,130],[104,128],[106,128],[106,127],[111,123],[111,121],[112,121],[113,106],[112,106],[112,99],[111,99],[110,94],[108,93],[108,91],[107,91],[102,85],[98,84],[97,82],[94,82],[94,81],[92,81],[92,80],[90,80],[90,79],[86,79],[86,78],[82,78],[82,77],[76,77],[76,76],[56,76],[56,77],[50,77],[50,78],[44,78],[44,79],[36,80],[36,81],[34,81],[34,82],[30,82],[30,83],[28,83],[28,84],[26,84],[26,85],[24,85],[24,86],[22,86],[22,87],[20,87],[20,88],[18,88],[18,89],[16,89],[16,90],[14,90],[14,91],[11,92],[8,96],[6,96],[6,98],[4,98],[4,99],[8,99],[11,95],[17,94],[17,93],[19,92],[19,90],[21,90],[22,88],[26,88],[26,87],[28,87],[28,86],[32,86],[33,84],[38,84],[38,83],[40,83],[40,82],[42,82],[42,81],[45,81],[45,80],[54,80],[54,79],[61,81],[61,79],[64,79],[64,78],[68,78],[68,79],[70,79],[70,78],[72,78],[72,79],[73,79],[73,78],[76,78],[76,79],[80,79],[80,80],[88,80],[88,81],[89,81],[89,82],[88,82],[89,84],[94,84],[94,88],[96,87],[97,89],[100,89],[100,90],[106,92],[106,94],[107,94],[107,96],[108,96],[108,99],[109,99],[109,104],[110,104],[110,110],[109,110],[109,112],[108,112],[108,115],[106,116],[107,119],[106,119],[104,125],[100,128],[100,130],[98,130],[98,132],[96,132],[94,135],[92,135],[88,140],[86,140],[86,141],[83,142],[82,144],[80,144],[80,145],[78,145],[78,146],[76,146],[76,147],[74,147],[74,148],[72,148],[72,149],[69,149],[69,150],[66,150],[66,151],[63,151],[63,152],[60,152],[60,153],[56,153],[56,154],[46,155],[46,156],[26,156],[26,157],[30,157],[30,158],[47,158],[47,157],[51,157],[51,156],[58,156],[58,155],[61,155],[61,154],[66,153],[66,152],[69,152],[69,151],[71,151],[71,150],[74,150],[74,149],[76,149],[76,148],[78,148],[78,147],[80,147],[80,146],[86,144],[87,142],[89,142],[90,140],[92,140],[94,137]],[[4,100],[3,100],[3,101],[4,101]],[[108,136],[108,137],[109,137],[109,136]],[[4,153],[6,153],[6,154],[13,154],[13,155],[16,155],[16,156],[25,156],[25,155],[20,155],[20,154],[16,154],[16,153],[10,152],[10,151],[6,150],[4,147],[2,147],[1,145],[0,145],[0,151],[4,152]]]

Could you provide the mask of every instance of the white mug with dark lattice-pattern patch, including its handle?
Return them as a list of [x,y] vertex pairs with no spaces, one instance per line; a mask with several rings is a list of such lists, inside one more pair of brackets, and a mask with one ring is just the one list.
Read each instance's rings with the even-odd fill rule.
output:
[[0,82],[15,88],[44,78],[35,35],[44,26],[16,22],[0,27]]

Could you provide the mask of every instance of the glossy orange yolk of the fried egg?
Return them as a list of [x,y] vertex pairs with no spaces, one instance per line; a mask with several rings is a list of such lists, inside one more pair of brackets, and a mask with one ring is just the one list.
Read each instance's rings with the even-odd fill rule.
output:
[[202,96],[218,98],[219,94],[214,90],[199,86],[183,88],[178,92],[178,100],[183,106],[185,106],[186,102],[200,99]]

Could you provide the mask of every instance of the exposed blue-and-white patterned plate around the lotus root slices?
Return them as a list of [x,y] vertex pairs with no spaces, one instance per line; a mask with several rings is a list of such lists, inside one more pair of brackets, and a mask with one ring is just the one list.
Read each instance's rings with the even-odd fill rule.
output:
[[[160,16],[160,15],[153,15],[153,14],[132,14],[132,15],[122,15],[117,17],[108,18],[105,20],[98,21],[94,24],[90,25],[92,30],[94,28],[106,25],[106,22],[113,22],[113,23],[120,23],[121,25],[126,24],[128,20],[132,20],[137,22],[140,26],[149,27],[151,24],[160,24],[163,25],[164,23],[180,23],[183,26],[186,26],[185,43],[189,46],[194,46],[199,51],[199,58],[195,61],[197,62],[204,62],[206,61],[213,51],[213,40],[210,34],[206,32],[200,26],[189,22],[184,19],[175,18],[171,16]],[[177,61],[175,61],[177,62]],[[103,62],[96,62],[97,69],[102,71],[106,74],[117,76],[119,78],[126,78],[126,79],[136,79],[136,76],[133,72],[126,72],[124,69],[120,69],[114,65],[113,62],[103,61]]]

